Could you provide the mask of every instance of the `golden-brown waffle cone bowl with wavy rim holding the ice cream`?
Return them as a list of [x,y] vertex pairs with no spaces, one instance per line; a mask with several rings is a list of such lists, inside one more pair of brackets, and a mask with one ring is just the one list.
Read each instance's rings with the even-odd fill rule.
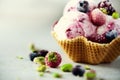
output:
[[54,31],[52,31],[52,35],[74,62],[88,64],[110,63],[120,55],[120,37],[108,44],[100,44],[88,41],[82,36],[59,40]]

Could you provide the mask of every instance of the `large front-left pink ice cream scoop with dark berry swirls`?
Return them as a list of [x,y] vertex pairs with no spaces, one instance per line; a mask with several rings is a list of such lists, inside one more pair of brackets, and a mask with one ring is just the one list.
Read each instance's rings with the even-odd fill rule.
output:
[[71,39],[77,36],[88,37],[95,30],[96,27],[91,24],[89,16],[77,11],[65,14],[54,27],[54,31],[60,39]]

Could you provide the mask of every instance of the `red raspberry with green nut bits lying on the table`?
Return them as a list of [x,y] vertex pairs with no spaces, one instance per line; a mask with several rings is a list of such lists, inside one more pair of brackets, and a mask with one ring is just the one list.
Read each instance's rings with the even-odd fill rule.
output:
[[57,52],[49,52],[45,56],[45,63],[51,68],[58,67],[59,64],[61,63],[61,60],[62,60],[61,55]]

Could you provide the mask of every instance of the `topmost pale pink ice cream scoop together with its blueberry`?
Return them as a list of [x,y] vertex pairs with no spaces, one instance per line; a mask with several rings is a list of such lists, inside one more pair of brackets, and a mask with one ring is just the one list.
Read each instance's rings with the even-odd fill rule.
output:
[[70,0],[65,6],[63,14],[70,11],[88,12],[96,8],[97,5],[93,0]]

